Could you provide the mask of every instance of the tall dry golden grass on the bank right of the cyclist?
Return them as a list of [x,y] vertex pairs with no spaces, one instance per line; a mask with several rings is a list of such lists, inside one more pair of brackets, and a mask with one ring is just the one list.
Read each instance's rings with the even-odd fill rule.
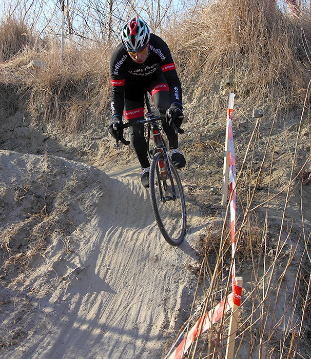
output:
[[[254,106],[282,97],[287,108],[302,106],[311,68],[310,14],[294,20],[272,4],[211,2],[169,29],[183,84],[198,102],[207,95],[215,104],[215,95],[229,88]],[[171,37],[176,33],[178,42]]]

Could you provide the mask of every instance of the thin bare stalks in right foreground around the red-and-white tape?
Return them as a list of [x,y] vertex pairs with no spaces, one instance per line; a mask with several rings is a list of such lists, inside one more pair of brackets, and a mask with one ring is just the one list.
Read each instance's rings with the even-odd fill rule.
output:
[[[244,164],[250,156],[248,165],[255,167],[252,149],[259,141],[257,126],[248,146],[245,146],[245,158],[237,174],[236,188],[240,193],[237,209],[241,214],[236,222],[235,260],[237,275],[245,275],[236,333],[237,358],[251,355],[269,359],[309,357],[311,233],[305,220],[305,216],[309,218],[310,215],[309,207],[303,198],[304,195],[309,197],[304,176],[309,172],[309,153],[298,169],[296,166],[299,149],[304,143],[301,135],[305,123],[304,111],[305,108],[295,133],[296,139],[289,141],[288,137],[284,141],[284,145],[291,148],[291,154],[288,154],[291,168],[290,175],[277,193],[274,192],[273,174],[279,173],[279,163],[274,158],[275,144],[271,136],[275,122],[270,129],[265,152],[261,153],[262,162],[256,177],[249,180],[246,193],[240,190],[245,187],[243,173],[247,168]],[[259,189],[263,172],[267,172],[268,184],[265,189]],[[299,204],[300,210],[294,215],[292,209]],[[276,210],[278,217],[273,218],[272,213]],[[196,243],[202,262],[195,268],[199,274],[198,290],[187,322],[190,323],[189,328],[198,319],[198,315],[192,317],[198,303],[204,303],[198,308],[200,316],[204,316],[231,291],[233,261],[230,257],[229,218],[227,207],[222,229],[211,225],[205,238],[201,236]],[[203,298],[199,293],[204,293]],[[229,315],[223,315],[218,323],[197,338],[185,357],[225,357],[228,325]]]

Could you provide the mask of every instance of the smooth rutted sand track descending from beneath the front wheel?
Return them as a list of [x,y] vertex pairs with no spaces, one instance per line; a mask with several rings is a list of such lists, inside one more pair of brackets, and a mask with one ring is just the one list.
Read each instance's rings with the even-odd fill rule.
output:
[[185,264],[193,253],[186,241],[174,248],[161,237],[135,171],[103,172],[98,210],[75,234],[72,256],[85,269],[39,301],[40,326],[15,357],[161,357],[166,329],[191,303]]

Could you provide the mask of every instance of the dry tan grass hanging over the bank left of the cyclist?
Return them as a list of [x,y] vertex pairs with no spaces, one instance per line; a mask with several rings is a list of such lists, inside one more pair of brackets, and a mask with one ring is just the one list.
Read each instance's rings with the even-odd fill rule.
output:
[[[14,34],[17,43],[19,32]],[[22,101],[26,101],[33,121],[54,122],[65,133],[75,133],[91,121],[102,121],[109,109],[110,53],[105,45],[79,47],[70,43],[61,59],[57,39],[37,39],[32,48],[21,47],[18,56],[6,52],[2,77],[6,83],[17,82],[27,89]]]

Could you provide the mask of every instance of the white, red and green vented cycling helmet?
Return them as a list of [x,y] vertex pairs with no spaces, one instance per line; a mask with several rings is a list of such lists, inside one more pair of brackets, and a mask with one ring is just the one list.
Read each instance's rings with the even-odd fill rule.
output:
[[121,41],[126,51],[137,52],[143,50],[150,38],[147,24],[140,18],[133,17],[121,31]]

